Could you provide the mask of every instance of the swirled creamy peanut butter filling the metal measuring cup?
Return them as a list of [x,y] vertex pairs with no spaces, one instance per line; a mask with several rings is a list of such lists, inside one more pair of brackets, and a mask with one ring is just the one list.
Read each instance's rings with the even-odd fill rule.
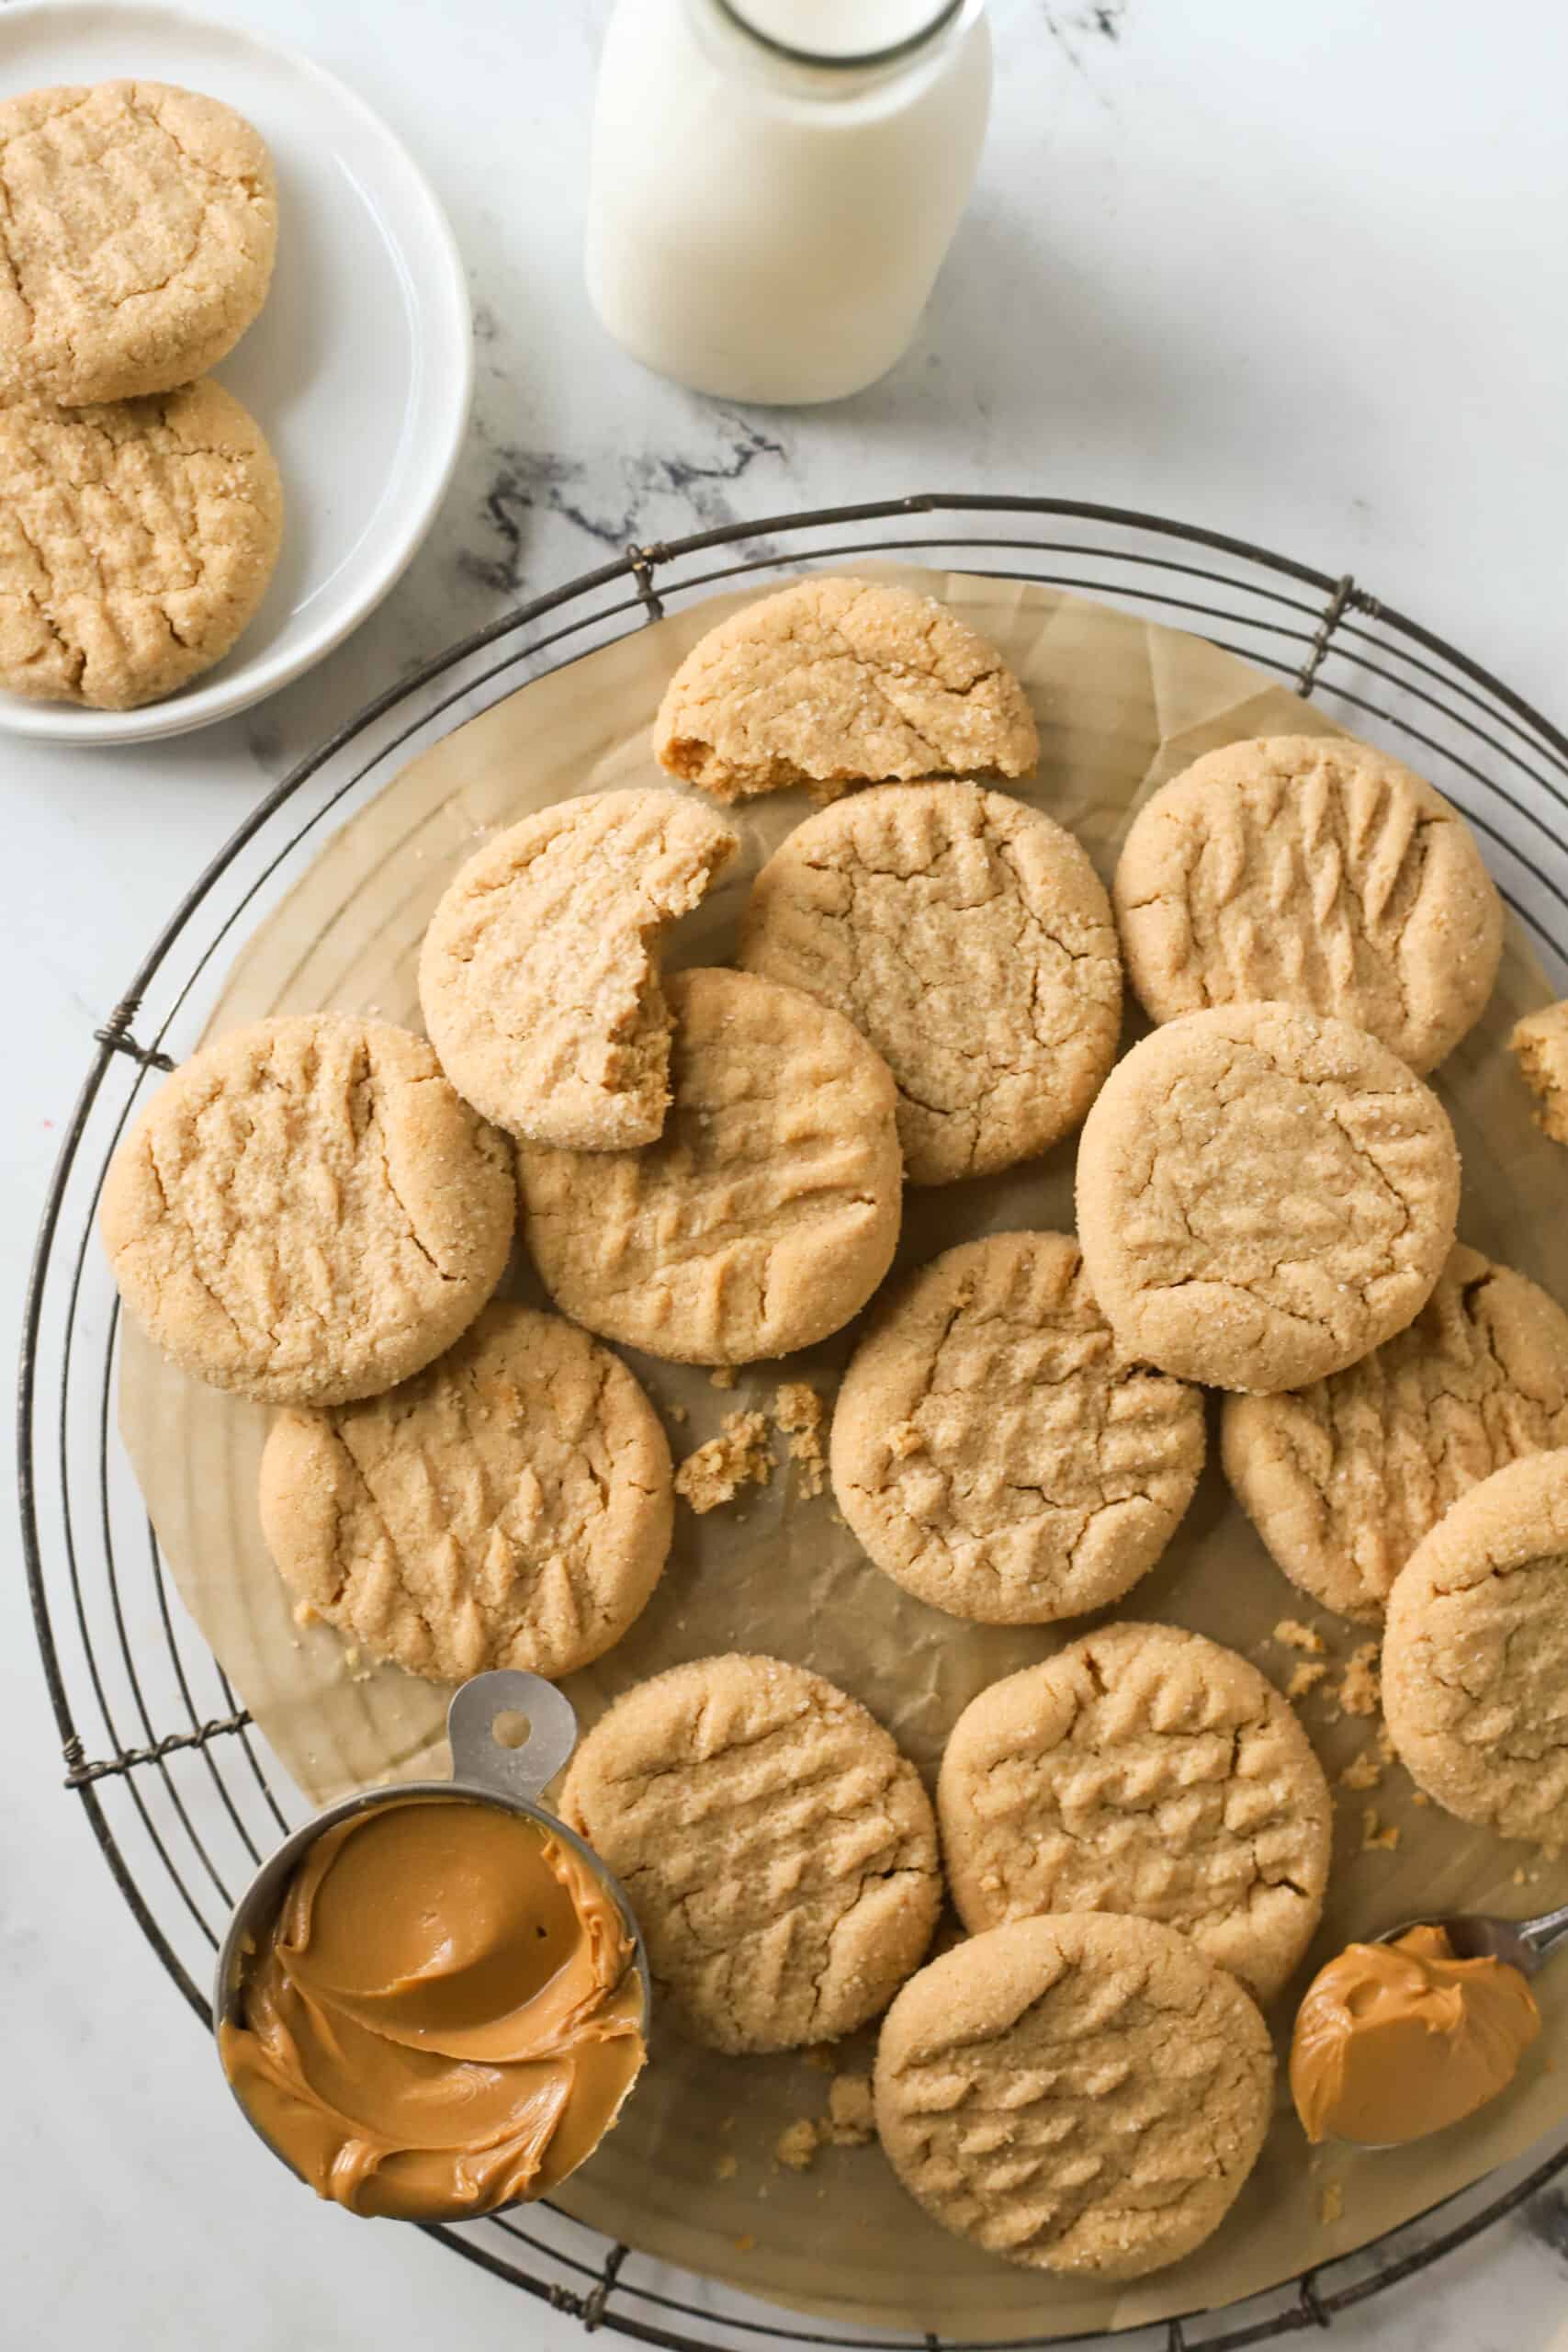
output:
[[543,1825],[468,1797],[341,1820],[294,1872],[219,2051],[317,2197],[404,2220],[543,2197],[644,2060],[611,1893]]

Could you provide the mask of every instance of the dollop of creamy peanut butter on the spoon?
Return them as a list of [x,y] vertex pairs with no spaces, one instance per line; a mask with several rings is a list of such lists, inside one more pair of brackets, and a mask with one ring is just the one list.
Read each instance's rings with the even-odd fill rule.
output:
[[1441,1926],[1352,1943],[1295,2013],[1295,2112],[1309,2140],[1422,2140],[1507,2089],[1537,2032],[1519,1969],[1455,1959]]

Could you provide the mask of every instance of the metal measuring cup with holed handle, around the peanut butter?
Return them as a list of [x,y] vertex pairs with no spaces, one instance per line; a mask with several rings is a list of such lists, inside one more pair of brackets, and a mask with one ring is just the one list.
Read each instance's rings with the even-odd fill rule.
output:
[[[496,1736],[496,1724],[505,1715],[524,1715],[529,1722],[529,1736],[520,1748],[510,1748]],[[322,1806],[322,1811],[306,1820],[303,1828],[294,1830],[292,1837],[284,1837],[282,1846],[266,1858],[235,1903],[235,1915],[228,1922],[228,1933],[223,1936],[223,1945],[219,1950],[212,1987],[214,2046],[223,2023],[242,2023],[244,1971],[254,1955],[266,1947],[289,1882],[315,1839],[327,1830],[336,1830],[341,1820],[353,1820],[357,1813],[371,1813],[381,1804],[407,1804],[409,1797],[470,1797],[475,1804],[496,1806],[501,1813],[520,1813],[524,1820],[536,1820],[550,1832],[550,1837],[559,1837],[562,1844],[571,1846],[571,1851],[592,1870],[621,1915],[628,1943],[632,1945],[637,1980],[642,1985],[642,2032],[646,2042],[654,2009],[654,1983],[649,1976],[649,1955],[642,1943],[642,1929],[637,1926],[637,1915],[625,1898],[625,1889],[614,1872],[604,1867],[592,1846],[583,1844],[576,1830],[569,1830],[564,1820],[538,1804],[541,1790],[548,1788],[576,1748],[578,1724],[571,1700],[541,1675],[524,1675],[515,1670],[475,1675],[451,1693],[451,1705],[447,1708],[447,1738],[451,1740],[449,1780],[390,1780],[383,1788],[364,1788],[355,1797],[339,1797],[336,1804]],[[223,2079],[228,2082],[228,2067],[223,2067]],[[266,2131],[261,2131],[233,2082],[228,2082],[228,2089],[256,2138],[273,2150],[280,2164],[289,2164],[282,2150],[273,2147]],[[294,2171],[292,2164],[289,2171]],[[494,2206],[491,2211],[505,2211],[505,2206]]]

